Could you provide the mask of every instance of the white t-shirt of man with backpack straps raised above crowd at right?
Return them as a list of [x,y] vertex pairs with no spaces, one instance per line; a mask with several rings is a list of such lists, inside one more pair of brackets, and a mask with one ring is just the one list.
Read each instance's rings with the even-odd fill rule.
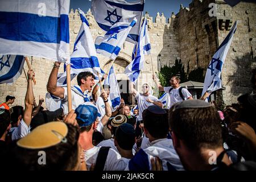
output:
[[[172,89],[171,92],[169,90],[171,89],[171,86],[164,87],[164,92],[170,94],[170,100],[168,101],[168,108],[171,108],[172,105],[176,104],[177,102],[182,102],[182,98],[180,97],[179,88]],[[188,92],[187,89],[183,88],[181,90],[183,97],[185,100],[188,99],[188,97],[191,97],[191,93]]]

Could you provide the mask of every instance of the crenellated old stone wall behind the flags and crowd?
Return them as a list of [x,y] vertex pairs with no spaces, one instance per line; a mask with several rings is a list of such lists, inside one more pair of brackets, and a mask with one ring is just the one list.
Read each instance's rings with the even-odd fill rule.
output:
[[[209,3],[217,3],[217,17],[209,17]],[[189,66],[189,72],[198,67],[207,70],[207,66],[216,51],[218,45],[228,34],[230,27],[237,20],[237,32],[234,35],[233,43],[230,46],[224,69],[222,72],[223,86],[226,90],[220,92],[225,104],[236,102],[237,97],[246,92],[250,92],[250,71],[255,67],[255,34],[256,34],[256,4],[240,2],[234,7],[226,5],[223,0],[193,0],[189,8],[181,5],[179,13],[170,14],[166,18],[163,14],[157,14],[153,19],[146,13],[148,20],[148,32],[151,42],[151,55],[145,56],[144,69],[139,76],[135,88],[140,91],[141,85],[147,82],[158,94],[158,89],[152,81],[152,65],[154,72],[158,72],[163,65],[172,66],[176,59],[181,59],[185,66],[185,71]],[[90,31],[93,39],[97,36],[104,36],[105,31],[98,27],[90,10],[86,13],[90,24]],[[155,21],[153,21],[155,20]],[[69,13],[69,33],[70,33],[70,53],[81,26],[80,16],[77,10]],[[125,42],[119,53],[114,69],[118,80],[127,80],[123,73],[125,67],[131,62],[131,53],[134,44]],[[104,71],[109,69],[109,59],[97,55],[100,66]],[[34,94],[36,102],[39,95],[46,94],[46,84],[51,72],[53,61],[33,57],[30,62],[35,70],[36,85]],[[27,65],[24,64],[27,72]],[[63,72],[61,65],[60,72]],[[72,85],[76,84],[76,79]],[[27,82],[24,73],[13,84],[0,85],[0,102],[5,101],[7,95],[16,97],[14,105],[24,106],[24,96],[26,94]],[[43,105],[44,106],[44,105]]]

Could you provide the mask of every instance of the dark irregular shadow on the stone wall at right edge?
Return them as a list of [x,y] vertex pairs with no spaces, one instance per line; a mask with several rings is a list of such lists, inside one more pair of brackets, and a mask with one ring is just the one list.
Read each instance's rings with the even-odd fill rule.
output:
[[[254,60],[254,61],[253,61]],[[253,85],[251,83],[252,71],[255,68],[256,57],[252,56],[250,53],[242,57],[236,57],[234,63],[237,68],[233,72],[233,75],[228,76],[227,85],[231,85],[230,92],[234,96],[239,96],[240,94],[250,93],[253,90]]]

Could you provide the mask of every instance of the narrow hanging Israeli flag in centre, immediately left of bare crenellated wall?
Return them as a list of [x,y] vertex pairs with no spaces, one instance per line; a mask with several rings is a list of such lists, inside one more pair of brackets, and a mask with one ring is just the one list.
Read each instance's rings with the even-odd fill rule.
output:
[[[125,73],[130,81],[135,85],[139,77],[139,72],[144,67],[144,55],[149,55],[151,50],[150,39],[147,31],[147,19],[144,18],[141,32],[139,33],[138,47],[134,45],[131,63],[125,68]],[[137,52],[137,55],[136,55]]]

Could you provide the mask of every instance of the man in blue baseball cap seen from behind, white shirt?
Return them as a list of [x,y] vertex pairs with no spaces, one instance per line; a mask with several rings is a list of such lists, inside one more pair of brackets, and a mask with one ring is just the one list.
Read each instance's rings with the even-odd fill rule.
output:
[[122,171],[125,169],[127,166],[126,161],[112,148],[109,148],[103,161],[97,162],[100,160],[98,158],[99,152],[104,150],[101,150],[101,147],[93,146],[92,143],[93,131],[97,128],[97,120],[100,116],[97,108],[92,105],[80,105],[75,110],[75,113],[77,114],[76,120],[80,127],[79,143],[82,150],[84,150],[87,168],[90,169],[92,164],[94,164],[95,169],[100,168],[98,166],[102,166],[100,171]]

